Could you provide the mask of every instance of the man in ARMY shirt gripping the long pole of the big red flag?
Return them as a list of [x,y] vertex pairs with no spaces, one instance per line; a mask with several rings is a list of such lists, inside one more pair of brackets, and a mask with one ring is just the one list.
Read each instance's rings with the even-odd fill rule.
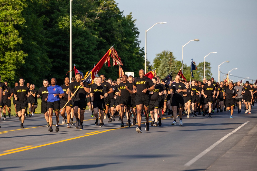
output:
[[[73,99],[73,110],[74,110],[74,115],[76,118],[76,124],[75,128],[79,128],[79,130],[83,130],[83,120],[84,120],[84,112],[86,109],[86,92],[89,93],[89,86],[87,82],[85,81],[84,83],[81,81],[82,76],[80,73],[77,73],[75,75],[76,81],[70,83],[69,85],[69,93],[68,93],[68,99],[71,100],[70,98],[70,93],[75,93],[76,89],[81,85],[78,89],[78,91],[74,95]],[[78,109],[80,109],[80,119],[78,118]]]

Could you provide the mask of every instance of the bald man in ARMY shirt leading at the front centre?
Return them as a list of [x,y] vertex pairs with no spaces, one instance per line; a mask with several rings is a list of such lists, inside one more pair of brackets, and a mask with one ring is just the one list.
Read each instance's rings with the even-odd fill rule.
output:
[[136,131],[141,133],[141,112],[144,109],[145,111],[145,131],[149,130],[149,91],[154,90],[154,84],[152,80],[148,77],[145,77],[145,72],[143,69],[139,70],[139,77],[135,78],[133,84],[133,93],[136,93],[136,109],[137,109],[137,123]]

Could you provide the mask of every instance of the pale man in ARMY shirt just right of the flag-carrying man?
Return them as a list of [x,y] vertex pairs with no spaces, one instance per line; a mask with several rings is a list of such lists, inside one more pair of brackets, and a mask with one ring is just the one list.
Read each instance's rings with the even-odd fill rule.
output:
[[104,98],[108,96],[107,89],[102,85],[102,78],[98,77],[96,80],[96,85],[91,86],[90,88],[90,96],[91,101],[93,102],[94,108],[94,116],[96,117],[95,125],[98,125],[98,111],[100,110],[100,124],[99,127],[103,127],[104,125],[104,110],[105,103]]

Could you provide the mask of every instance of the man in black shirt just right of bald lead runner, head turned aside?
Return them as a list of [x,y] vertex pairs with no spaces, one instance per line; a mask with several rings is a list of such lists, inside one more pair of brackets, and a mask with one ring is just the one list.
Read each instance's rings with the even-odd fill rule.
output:
[[163,95],[164,89],[159,84],[157,85],[157,78],[152,78],[153,84],[155,89],[150,91],[150,103],[149,103],[149,109],[150,109],[150,115],[152,118],[151,126],[158,126],[157,120],[158,120],[158,108],[160,105],[161,96]]

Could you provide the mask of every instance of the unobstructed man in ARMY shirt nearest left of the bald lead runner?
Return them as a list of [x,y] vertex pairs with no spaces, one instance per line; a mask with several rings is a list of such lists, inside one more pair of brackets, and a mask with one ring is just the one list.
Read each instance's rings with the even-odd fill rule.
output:
[[124,107],[127,107],[127,126],[131,126],[131,120],[130,120],[130,107],[131,107],[131,97],[130,94],[133,94],[133,87],[131,84],[127,81],[128,76],[123,75],[122,76],[122,82],[120,84],[120,105],[121,105],[121,111],[120,111],[120,116],[121,116],[121,127],[124,127],[124,122],[123,122],[123,110]]

